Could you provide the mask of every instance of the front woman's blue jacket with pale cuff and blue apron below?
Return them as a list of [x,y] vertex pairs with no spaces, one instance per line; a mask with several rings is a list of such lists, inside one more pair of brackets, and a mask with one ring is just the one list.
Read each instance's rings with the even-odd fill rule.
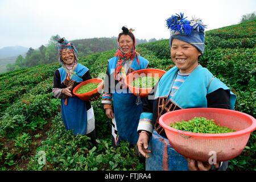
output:
[[148,142],[148,149],[151,153],[150,158],[146,159],[146,170],[188,170],[187,160],[172,148],[171,143],[165,137],[163,128],[158,123],[162,114],[177,109],[207,107],[207,95],[220,88],[229,92],[229,106],[230,109],[234,109],[236,95],[201,65],[194,69],[174,96],[168,99],[178,71],[179,69],[174,67],[162,76],[156,85],[155,94],[151,96],[153,105],[149,107],[153,108],[152,113],[144,112],[140,117],[138,131],[146,130],[152,134]]

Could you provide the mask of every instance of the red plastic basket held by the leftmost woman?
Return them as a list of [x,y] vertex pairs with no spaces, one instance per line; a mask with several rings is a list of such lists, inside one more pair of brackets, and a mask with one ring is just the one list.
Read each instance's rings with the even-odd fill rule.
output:
[[[82,94],[76,93],[77,89],[79,89],[81,86],[89,84],[89,83],[95,83],[95,84],[99,84],[99,85],[96,89],[94,89],[90,92],[86,92],[86,93],[82,93]],[[89,101],[94,96],[100,95],[100,93],[102,91],[103,84],[104,84],[104,81],[101,78],[92,78],[90,80],[83,81],[79,85],[77,85],[73,89],[73,94],[83,101]]]

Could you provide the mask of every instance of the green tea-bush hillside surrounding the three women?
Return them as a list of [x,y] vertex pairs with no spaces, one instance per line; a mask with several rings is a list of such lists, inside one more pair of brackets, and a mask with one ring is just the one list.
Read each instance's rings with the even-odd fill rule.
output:
[[[256,117],[256,20],[207,31],[200,64],[207,67],[237,94],[236,110]],[[168,40],[140,44],[137,51],[150,68],[173,67]],[[115,50],[81,57],[93,77],[106,72]],[[60,100],[52,96],[57,63],[20,69],[0,75],[0,169],[1,170],[144,170],[135,148],[111,146],[111,122],[101,100],[92,102],[98,146],[88,137],[73,137],[60,116]],[[250,136],[229,170],[256,170],[256,133]],[[42,153],[46,164],[39,163]]]

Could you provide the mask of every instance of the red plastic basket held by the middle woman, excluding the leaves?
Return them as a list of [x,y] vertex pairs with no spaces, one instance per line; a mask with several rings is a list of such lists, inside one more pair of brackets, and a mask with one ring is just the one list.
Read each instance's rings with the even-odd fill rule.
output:
[[125,78],[125,85],[129,88],[131,93],[134,94],[134,96],[137,96],[139,94],[140,97],[146,97],[148,93],[152,90],[152,88],[138,88],[133,86],[133,81],[142,76],[152,76],[152,77],[162,77],[166,73],[166,71],[163,71],[162,69],[154,69],[154,68],[147,68],[147,69],[140,69],[138,71],[134,71],[129,73]]

